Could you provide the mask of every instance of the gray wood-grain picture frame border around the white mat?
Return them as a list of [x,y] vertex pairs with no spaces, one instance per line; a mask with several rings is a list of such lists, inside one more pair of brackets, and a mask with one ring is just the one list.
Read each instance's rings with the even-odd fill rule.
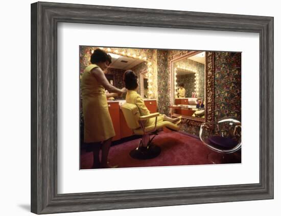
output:
[[[58,22],[260,35],[260,183],[57,194]],[[38,2],[31,5],[31,211],[37,214],[273,199],[273,17]]]

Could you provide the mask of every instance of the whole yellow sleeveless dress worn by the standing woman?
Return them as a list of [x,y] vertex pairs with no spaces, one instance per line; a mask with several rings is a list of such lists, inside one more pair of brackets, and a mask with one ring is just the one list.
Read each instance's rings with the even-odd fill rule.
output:
[[86,67],[81,80],[85,143],[101,142],[115,136],[105,88],[90,72],[96,67],[99,66],[91,64]]

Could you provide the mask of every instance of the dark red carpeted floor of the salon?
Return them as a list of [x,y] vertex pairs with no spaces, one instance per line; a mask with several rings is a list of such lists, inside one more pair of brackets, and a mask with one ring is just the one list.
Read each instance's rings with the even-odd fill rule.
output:
[[[146,160],[134,159],[130,151],[135,149],[140,139],[114,145],[110,148],[108,161],[118,168],[159,167],[180,165],[237,164],[241,163],[241,151],[223,155],[203,145],[200,139],[182,132],[159,132],[153,144],[161,148],[161,153]],[[81,169],[91,169],[92,152],[81,149]]]

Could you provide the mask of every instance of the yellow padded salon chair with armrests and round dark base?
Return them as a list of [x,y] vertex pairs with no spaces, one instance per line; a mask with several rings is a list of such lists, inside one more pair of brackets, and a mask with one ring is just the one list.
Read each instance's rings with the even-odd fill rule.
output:
[[[157,130],[162,127],[167,127],[170,130],[178,131],[179,126],[168,122],[162,121],[157,123],[157,117],[159,113],[152,113],[146,116],[140,116],[138,108],[135,104],[132,103],[124,103],[121,106],[121,110],[124,114],[126,123],[128,127],[133,131],[134,134],[142,135],[142,140],[136,149],[133,149],[130,152],[130,156],[135,159],[151,159],[157,157],[161,148],[157,145],[152,144],[152,140],[157,135]],[[146,121],[150,118],[155,119],[155,124],[146,126]],[[154,134],[154,136],[150,139],[150,135]]]

